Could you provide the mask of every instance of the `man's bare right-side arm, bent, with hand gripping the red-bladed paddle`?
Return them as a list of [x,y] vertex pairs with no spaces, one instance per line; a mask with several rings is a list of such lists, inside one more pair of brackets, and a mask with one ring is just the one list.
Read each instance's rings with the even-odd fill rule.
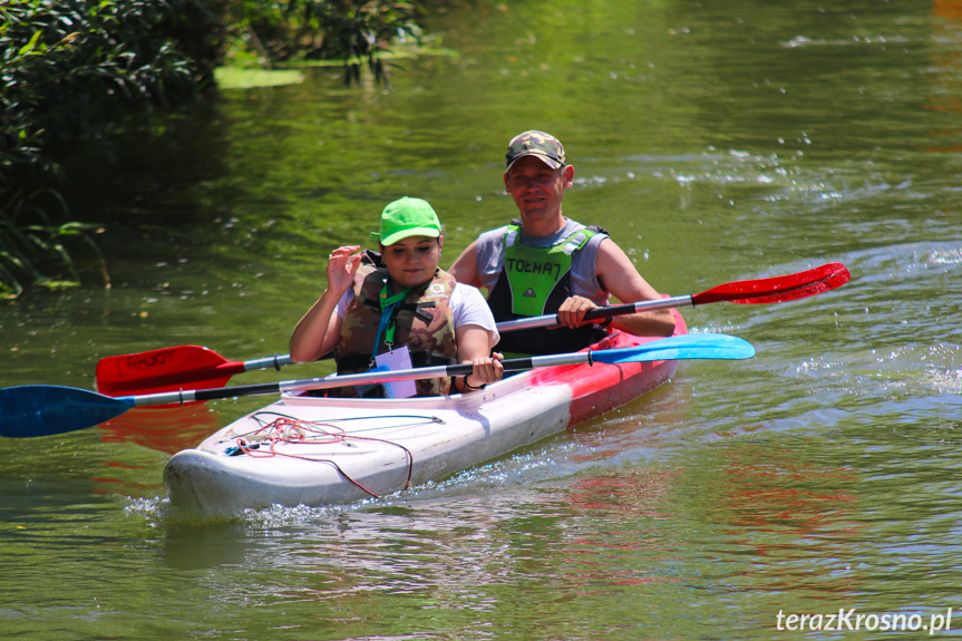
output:
[[[622,303],[661,300],[661,294],[641,278],[628,255],[611,239],[597,246],[595,275],[604,288]],[[582,297],[572,297],[558,309],[558,320],[565,327],[579,327],[584,314],[596,305]],[[671,336],[674,317],[670,310],[657,310],[612,317],[611,327],[634,336]]]

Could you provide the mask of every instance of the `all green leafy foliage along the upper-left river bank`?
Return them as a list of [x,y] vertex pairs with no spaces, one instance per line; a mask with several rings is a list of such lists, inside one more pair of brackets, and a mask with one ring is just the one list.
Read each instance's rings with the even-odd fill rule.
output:
[[64,241],[94,246],[84,225],[54,222],[69,216],[58,161],[75,142],[109,140],[213,86],[226,40],[262,67],[340,59],[348,84],[363,62],[381,81],[389,45],[420,39],[414,11],[404,0],[0,0],[0,294],[76,282]]

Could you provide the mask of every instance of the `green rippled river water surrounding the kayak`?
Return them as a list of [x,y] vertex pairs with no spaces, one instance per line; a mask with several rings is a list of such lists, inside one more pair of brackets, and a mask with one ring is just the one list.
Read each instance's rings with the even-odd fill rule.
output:
[[575,166],[565,213],[662,292],[833,261],[852,281],[682,310],[758,355],[358,505],[172,513],[169,456],[264,398],[3,439],[0,639],[960,634],[962,2],[477,0],[425,23],[438,51],[389,89],[312,69],[224,91],[119,171],[78,168],[111,286],[0,305],[0,387],[93,388],[100,358],[176,344],[285,353],[385,203],[435,205],[445,265],[512,217],[528,128]]

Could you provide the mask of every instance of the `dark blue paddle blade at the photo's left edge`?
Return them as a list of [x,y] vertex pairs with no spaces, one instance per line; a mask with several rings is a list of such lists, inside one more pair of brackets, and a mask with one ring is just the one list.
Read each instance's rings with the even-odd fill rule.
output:
[[134,407],[86,389],[22,385],[0,389],[0,436],[50,436],[99,425]]

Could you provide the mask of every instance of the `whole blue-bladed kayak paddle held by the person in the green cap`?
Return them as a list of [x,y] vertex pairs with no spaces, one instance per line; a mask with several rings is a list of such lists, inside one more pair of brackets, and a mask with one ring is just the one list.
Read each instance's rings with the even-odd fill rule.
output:
[[[681,359],[744,359],[752,356],[755,356],[755,348],[740,338],[701,333],[670,337],[629,348],[516,358],[505,360],[503,365],[505,370],[517,371],[585,362],[625,363]],[[150,405],[173,405],[418,378],[466,376],[470,371],[470,365],[449,365],[346,376],[331,375],[302,380],[243,385],[221,389],[168,391],[119,398],[72,387],[47,385],[8,387],[0,389],[0,436],[22,438],[75,431],[104,423],[128,409]]]

